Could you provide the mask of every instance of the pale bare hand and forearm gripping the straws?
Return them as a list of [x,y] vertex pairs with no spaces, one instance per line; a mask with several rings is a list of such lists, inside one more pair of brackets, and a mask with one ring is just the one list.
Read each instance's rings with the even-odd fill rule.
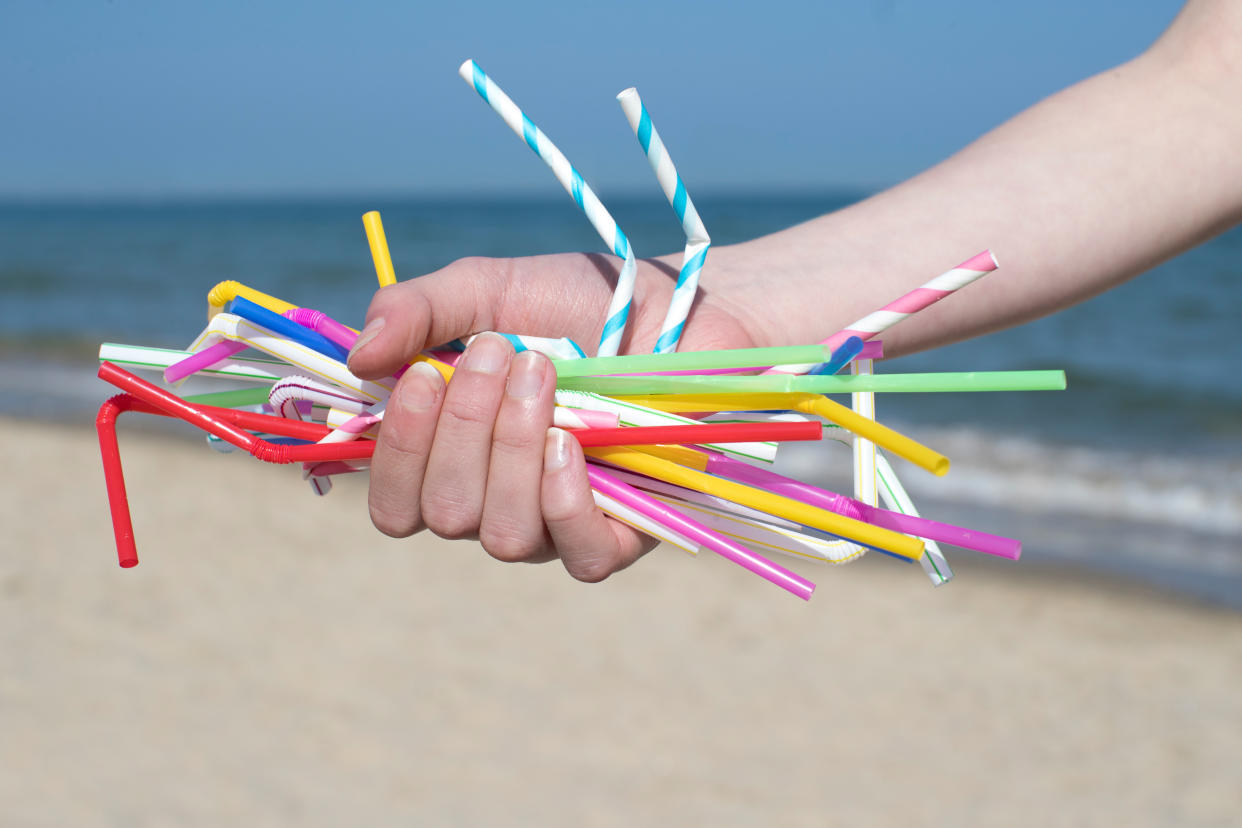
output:
[[[679,350],[818,341],[991,248],[997,273],[883,338],[894,356],[934,348],[1088,299],[1238,221],[1242,2],[1192,0],[1141,56],[922,175],[714,247]],[[678,262],[640,262],[623,353],[650,353]],[[596,343],[619,269],[601,254],[461,259],[378,292],[350,369],[379,379],[484,330]],[[554,385],[546,359],[499,336],[476,339],[447,386],[407,371],[371,463],[375,526],[478,539],[502,561],[559,559],[582,581],[637,560],[655,544],[595,508],[581,449],[550,427]]]

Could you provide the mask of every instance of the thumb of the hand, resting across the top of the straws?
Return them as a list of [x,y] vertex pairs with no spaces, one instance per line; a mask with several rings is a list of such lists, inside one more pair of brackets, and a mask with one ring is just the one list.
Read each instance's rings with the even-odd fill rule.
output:
[[509,259],[466,258],[433,273],[380,288],[349,353],[364,380],[389,376],[420,351],[492,330]]

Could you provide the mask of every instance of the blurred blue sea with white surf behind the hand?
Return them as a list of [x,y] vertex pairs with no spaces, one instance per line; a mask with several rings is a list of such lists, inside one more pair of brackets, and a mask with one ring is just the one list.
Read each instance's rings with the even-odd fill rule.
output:
[[[733,243],[866,195],[696,205],[713,241]],[[658,194],[609,207],[640,253],[681,248]],[[401,278],[462,256],[601,248],[564,196],[0,204],[0,413],[88,423],[108,395],[93,376],[99,343],[184,348],[222,279],[358,324],[375,287],[368,210],[384,216]],[[1242,610],[1240,358],[1235,228],[1054,317],[877,366],[1064,369],[1067,391],[883,395],[877,413],[954,462],[944,478],[899,468],[924,515],[1023,540],[1013,577],[1069,567]],[[817,448],[781,463],[841,484],[851,461]]]

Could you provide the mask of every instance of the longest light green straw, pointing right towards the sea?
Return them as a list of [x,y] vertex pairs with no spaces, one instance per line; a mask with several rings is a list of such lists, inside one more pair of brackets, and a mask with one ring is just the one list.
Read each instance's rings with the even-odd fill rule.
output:
[[[580,360],[585,361],[585,360]],[[558,380],[566,391],[606,396],[643,394],[925,394],[939,391],[1064,391],[1064,371],[858,374],[852,376],[582,376]]]

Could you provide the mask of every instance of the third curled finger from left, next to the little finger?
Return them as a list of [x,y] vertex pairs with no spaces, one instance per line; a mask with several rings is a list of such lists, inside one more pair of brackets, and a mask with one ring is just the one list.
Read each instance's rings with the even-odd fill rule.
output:
[[478,539],[502,561],[529,561],[548,549],[539,513],[544,434],[551,425],[556,372],[542,354],[513,359],[492,432],[492,458]]

